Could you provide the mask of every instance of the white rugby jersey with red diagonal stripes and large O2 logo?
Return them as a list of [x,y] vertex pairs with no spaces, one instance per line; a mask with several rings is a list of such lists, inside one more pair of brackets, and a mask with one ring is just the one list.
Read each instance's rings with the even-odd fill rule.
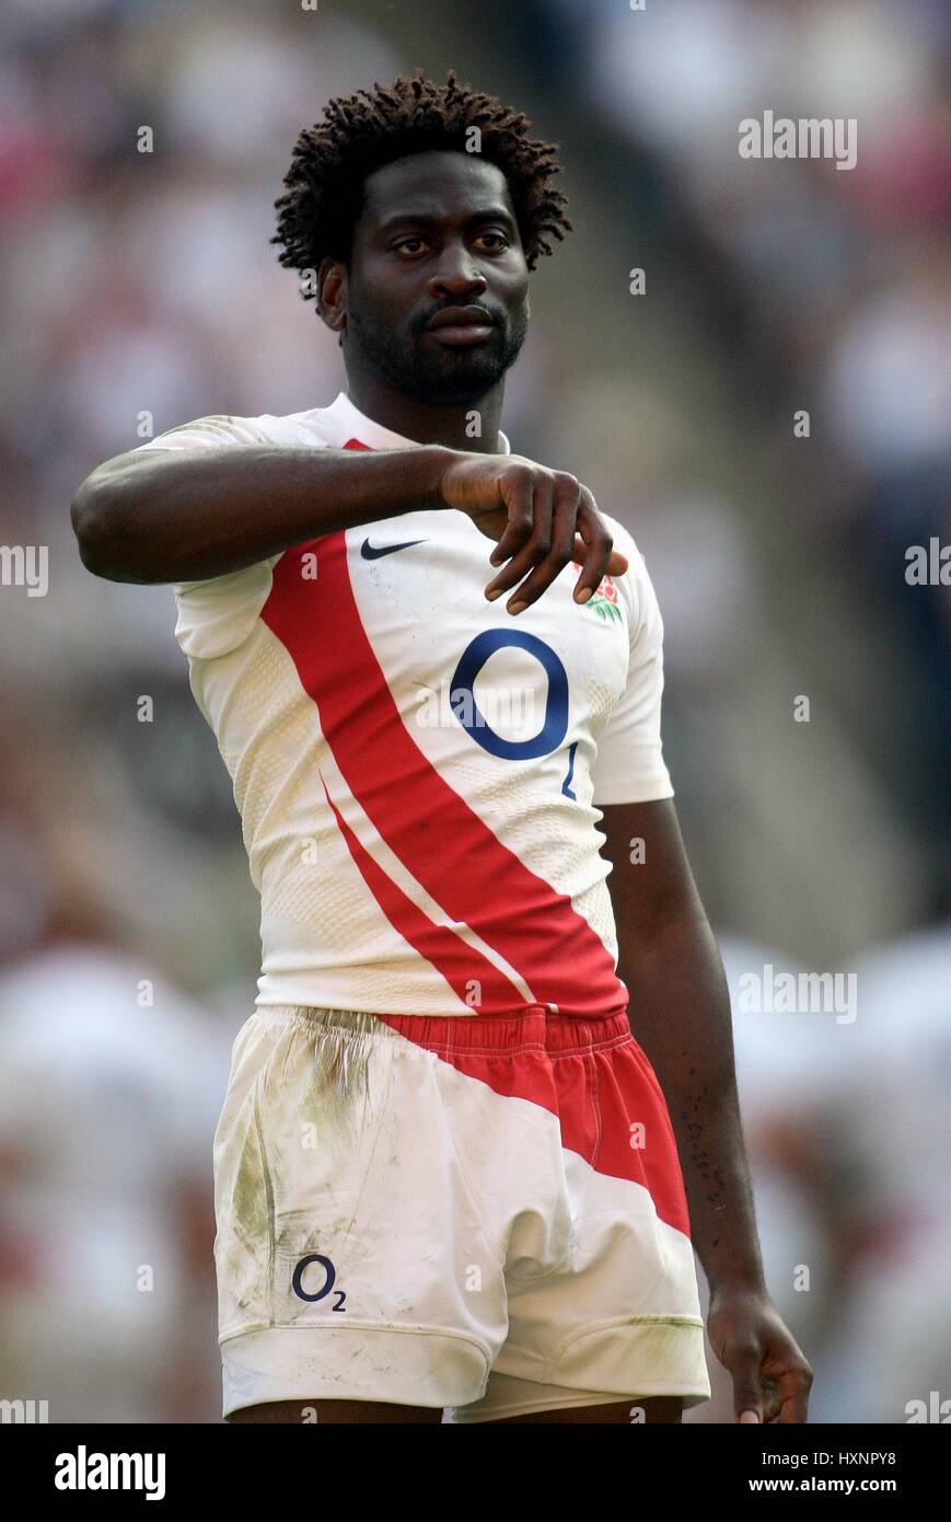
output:
[[[288,417],[202,417],[142,447],[230,443],[418,447],[344,393]],[[517,618],[485,601],[491,540],[453,510],[175,587],[262,898],[259,1006],[625,1006],[595,805],[673,788],[660,613],[630,534],[607,522],[628,571],[581,606],[566,566]]]

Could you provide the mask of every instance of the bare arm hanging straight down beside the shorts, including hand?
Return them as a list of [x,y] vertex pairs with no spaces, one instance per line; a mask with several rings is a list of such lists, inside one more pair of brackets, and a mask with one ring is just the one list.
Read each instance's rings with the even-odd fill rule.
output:
[[[738,1417],[756,1411],[759,1420],[805,1422],[811,1371],[767,1295],[729,991],[674,805],[606,805],[603,828],[618,976],[630,992],[631,1032],[668,1102],[691,1234],[711,1288],[711,1342],[733,1374]],[[644,861],[635,866],[636,839]]]

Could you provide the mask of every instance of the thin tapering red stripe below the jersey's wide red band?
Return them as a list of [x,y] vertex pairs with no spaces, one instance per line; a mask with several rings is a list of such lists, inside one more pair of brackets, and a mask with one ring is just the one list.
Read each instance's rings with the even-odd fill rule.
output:
[[[449,930],[446,925],[437,925],[429,919],[411,898],[403,893],[402,887],[386,877],[383,869],[370,855],[362,842],[355,836],[353,829],[341,814],[339,808],[330,798],[327,784],[321,776],[324,784],[324,793],[327,794],[327,802],[333,810],[333,817],[341,829],[350,855],[353,857],[358,869],[361,871],[367,887],[376,898],[377,904],[386,915],[390,924],[399,930],[405,941],[425,956],[438,973],[443,974],[446,982],[450,985],[455,994],[461,998],[464,1005],[469,1005],[475,1014],[482,1014],[487,1009],[517,1012],[525,1008],[525,1000],[520,991],[510,983],[507,977],[493,963],[482,956],[475,947],[467,945],[455,931]],[[472,985],[479,986],[479,1000],[472,1003]]]

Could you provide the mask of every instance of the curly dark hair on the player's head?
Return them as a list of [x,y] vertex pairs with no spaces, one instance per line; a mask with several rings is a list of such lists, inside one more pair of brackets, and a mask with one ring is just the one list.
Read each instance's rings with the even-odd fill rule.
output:
[[[324,120],[304,128],[294,145],[288,189],[274,202],[278,221],[271,242],[283,247],[278,262],[297,271],[318,269],[327,256],[347,262],[367,175],[425,149],[464,152],[469,129],[478,126],[481,157],[508,180],[525,262],[534,269],[540,254],[554,251],[549,234],[561,240],[572,224],[552,184],[558,145],[528,137],[530,125],[495,96],[460,85],[452,68],[444,85],[418,70],[330,100]],[[307,283],[301,294],[315,297]]]

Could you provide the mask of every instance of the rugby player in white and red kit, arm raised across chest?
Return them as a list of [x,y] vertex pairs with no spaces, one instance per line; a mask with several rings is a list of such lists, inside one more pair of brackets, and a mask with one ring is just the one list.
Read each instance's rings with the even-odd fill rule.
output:
[[215,1135],[231,1422],[679,1422],[694,1247],[736,1419],[806,1417],[654,592],[499,426],[571,228],[528,126],[453,73],[332,100],[274,242],[345,390],[172,428],[73,502],[90,571],[175,586],[262,896]]

